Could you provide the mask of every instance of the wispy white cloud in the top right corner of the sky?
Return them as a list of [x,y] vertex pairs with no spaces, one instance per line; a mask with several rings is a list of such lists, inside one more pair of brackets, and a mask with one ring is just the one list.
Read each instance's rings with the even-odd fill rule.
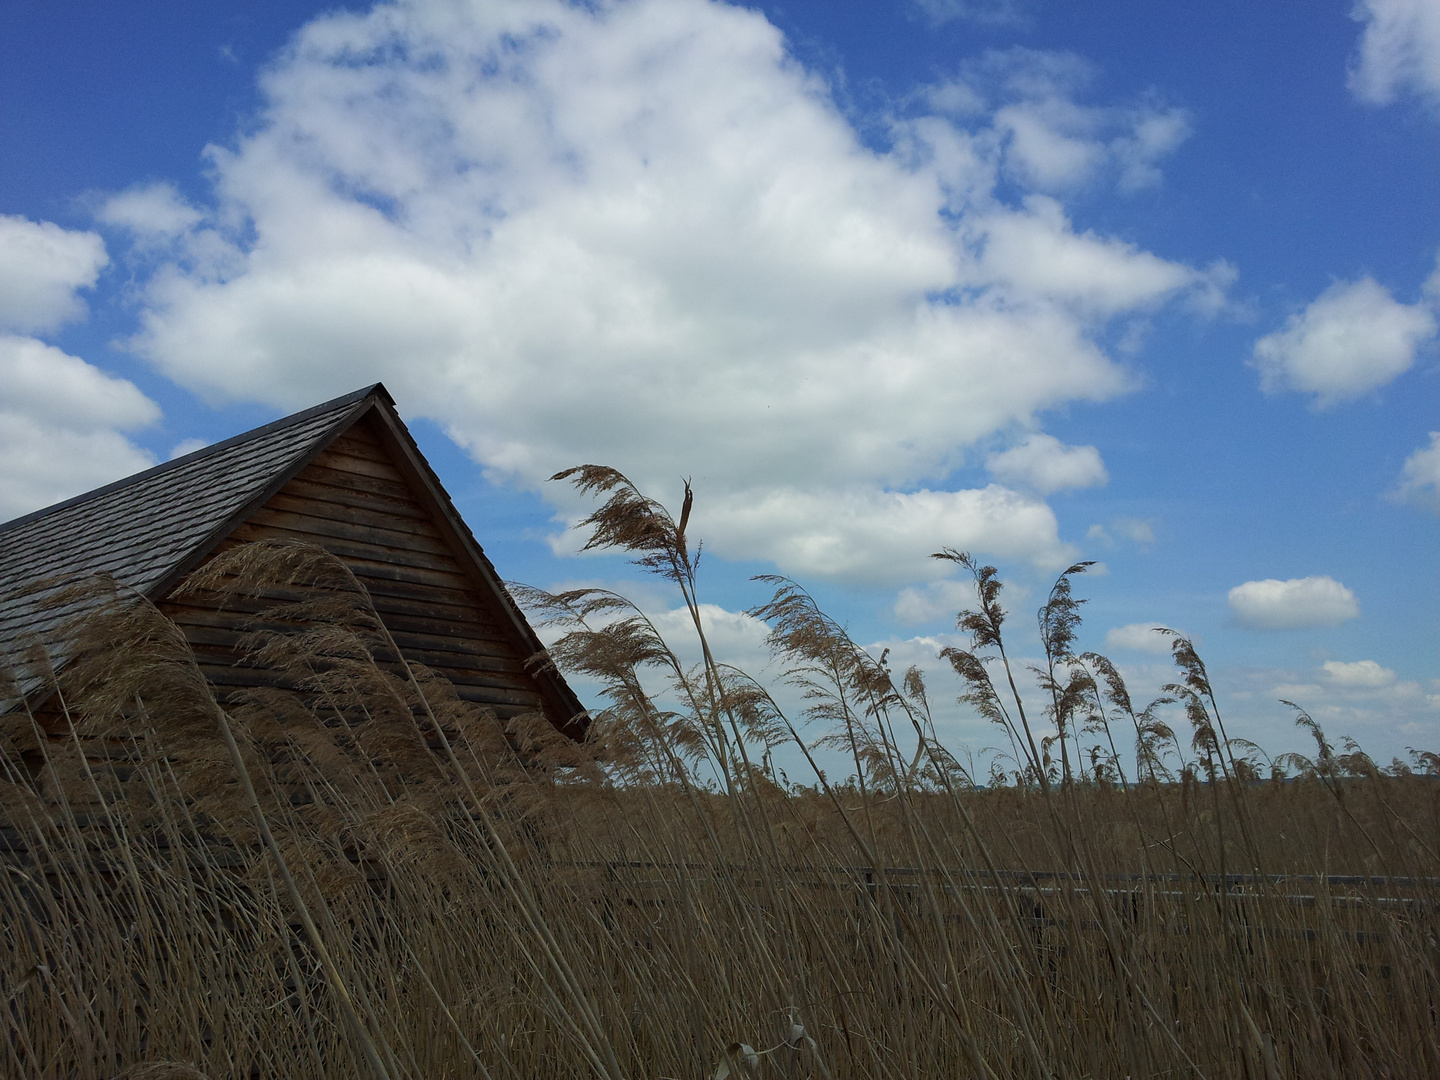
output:
[[1358,0],[1365,23],[1351,65],[1351,91],[1385,105],[1404,91],[1440,101],[1440,4],[1434,0]]

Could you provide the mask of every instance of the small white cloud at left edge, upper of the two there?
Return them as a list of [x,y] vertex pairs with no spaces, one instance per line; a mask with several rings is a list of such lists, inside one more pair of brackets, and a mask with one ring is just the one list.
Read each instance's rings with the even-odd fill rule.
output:
[[108,262],[92,232],[0,215],[0,331],[43,333],[84,318],[75,292],[94,285]]

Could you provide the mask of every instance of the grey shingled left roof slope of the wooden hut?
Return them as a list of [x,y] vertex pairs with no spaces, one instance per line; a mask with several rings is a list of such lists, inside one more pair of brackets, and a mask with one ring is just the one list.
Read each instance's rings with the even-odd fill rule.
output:
[[167,589],[376,393],[389,400],[370,386],[0,524],[0,661],[56,645],[79,611],[46,603],[63,582],[105,572],[145,595]]

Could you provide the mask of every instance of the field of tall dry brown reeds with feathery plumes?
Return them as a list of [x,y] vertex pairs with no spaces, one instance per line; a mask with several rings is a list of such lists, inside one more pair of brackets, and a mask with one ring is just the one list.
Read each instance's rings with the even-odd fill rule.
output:
[[[703,641],[687,514],[575,477],[606,497],[596,543],[675,583]],[[223,707],[179,631],[114,598],[58,684],[68,737],[0,717],[0,1070],[1440,1074],[1440,785],[1318,730],[1276,779],[1184,641],[1176,739],[1074,652],[1083,567],[1041,612],[1038,696],[1012,694],[999,582],[945,556],[975,575],[973,648],[948,658],[1012,747],[1007,786],[937,744],[917,674],[783,580],[760,613],[842,785],[778,783],[801,719],[609,593],[523,596],[605,687],[586,746],[376,662],[384,626],[315,549],[193,583],[274,600],[249,644],[291,688]]]

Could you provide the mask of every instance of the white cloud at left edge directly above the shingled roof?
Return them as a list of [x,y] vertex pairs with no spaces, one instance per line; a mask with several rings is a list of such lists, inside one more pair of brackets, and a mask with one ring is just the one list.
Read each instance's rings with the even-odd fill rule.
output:
[[121,432],[158,418],[132,383],[0,334],[0,521],[148,468],[154,459]]

